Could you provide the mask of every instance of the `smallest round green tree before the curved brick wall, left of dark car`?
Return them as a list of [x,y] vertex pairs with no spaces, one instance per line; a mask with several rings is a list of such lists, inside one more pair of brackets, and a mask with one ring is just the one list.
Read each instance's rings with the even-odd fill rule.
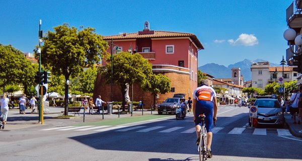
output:
[[165,94],[171,90],[171,80],[162,74],[152,74],[149,79],[150,86],[147,89],[153,95],[153,106],[158,93]]

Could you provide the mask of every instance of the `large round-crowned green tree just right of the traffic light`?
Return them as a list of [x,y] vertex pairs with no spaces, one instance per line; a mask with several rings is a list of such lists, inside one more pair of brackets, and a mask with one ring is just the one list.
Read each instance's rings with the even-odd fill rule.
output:
[[[53,75],[63,75],[65,82],[83,72],[86,65],[93,65],[100,61],[108,49],[107,42],[95,29],[86,28],[79,31],[75,27],[63,24],[54,27],[54,32],[48,31],[43,38],[41,60],[46,69],[51,69]],[[64,115],[67,115],[68,85],[65,83]]]

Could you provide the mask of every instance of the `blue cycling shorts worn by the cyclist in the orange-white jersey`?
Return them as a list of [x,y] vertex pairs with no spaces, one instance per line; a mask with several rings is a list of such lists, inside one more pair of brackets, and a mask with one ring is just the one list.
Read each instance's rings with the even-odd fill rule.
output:
[[201,125],[201,119],[198,117],[200,114],[204,114],[205,128],[207,132],[212,132],[213,126],[213,113],[214,103],[211,101],[197,100],[195,106],[195,125]]

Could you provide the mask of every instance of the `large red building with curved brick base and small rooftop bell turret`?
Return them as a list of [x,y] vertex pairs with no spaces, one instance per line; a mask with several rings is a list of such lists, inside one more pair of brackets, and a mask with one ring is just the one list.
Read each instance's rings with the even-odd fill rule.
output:
[[[137,33],[124,33],[115,36],[106,36],[103,40],[111,41],[119,51],[131,51],[139,53],[143,58],[153,64],[153,73],[161,73],[168,76],[175,92],[159,94],[158,102],[172,97],[175,93],[185,93],[186,99],[192,97],[193,90],[197,87],[197,61],[198,50],[204,49],[194,34],[153,31],[149,29],[149,23],[145,22],[144,29]],[[111,46],[111,45],[110,45]],[[110,48],[108,52],[110,53]],[[114,51],[114,53],[118,54]],[[102,61],[102,65],[105,65]],[[113,87],[113,101],[121,101],[122,95],[119,87]],[[132,98],[133,91],[133,98]],[[98,76],[94,96],[102,95],[102,99],[110,101],[111,86],[105,84],[101,76]],[[153,103],[153,97],[148,92],[143,92],[139,85],[129,87],[129,96],[132,101],[143,100],[145,107],[149,108]]]

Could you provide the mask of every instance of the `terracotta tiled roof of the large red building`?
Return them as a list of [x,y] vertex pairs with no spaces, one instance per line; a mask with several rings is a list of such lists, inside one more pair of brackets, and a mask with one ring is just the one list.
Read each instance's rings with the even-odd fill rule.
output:
[[144,34],[138,35],[137,33],[126,33],[121,35],[105,36],[103,40],[127,40],[127,39],[138,39],[138,38],[176,38],[176,37],[190,37],[191,40],[199,49],[204,49],[200,41],[194,34],[190,33],[178,33],[178,32],[169,32],[169,31],[154,31],[154,34]]

